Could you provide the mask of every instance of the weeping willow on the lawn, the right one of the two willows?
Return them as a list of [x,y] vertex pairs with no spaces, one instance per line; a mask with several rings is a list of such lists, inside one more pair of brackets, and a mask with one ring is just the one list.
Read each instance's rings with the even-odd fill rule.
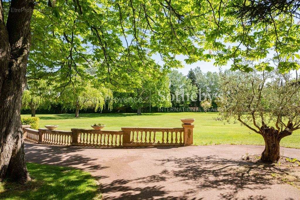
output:
[[[64,108],[74,109],[75,117],[79,117],[79,110],[94,108],[102,110],[105,105],[105,99],[113,97],[113,93],[110,89],[104,86],[93,87],[91,84],[85,84],[82,86],[69,85],[64,88],[59,99]],[[108,102],[108,108],[112,109],[112,101]]]

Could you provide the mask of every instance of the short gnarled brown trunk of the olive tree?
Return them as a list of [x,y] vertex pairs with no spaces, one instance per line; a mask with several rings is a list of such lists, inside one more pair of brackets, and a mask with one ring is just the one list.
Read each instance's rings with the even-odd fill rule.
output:
[[280,159],[280,140],[291,135],[289,130],[278,132],[274,127],[262,126],[261,134],[265,140],[265,149],[262,152],[261,160],[264,162],[275,163]]

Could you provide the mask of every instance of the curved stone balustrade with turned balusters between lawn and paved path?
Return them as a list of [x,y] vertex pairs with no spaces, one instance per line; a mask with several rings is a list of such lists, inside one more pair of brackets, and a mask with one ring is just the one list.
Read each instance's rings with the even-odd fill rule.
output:
[[193,144],[193,124],[182,128],[122,127],[122,131],[72,128],[71,131],[34,130],[23,125],[24,139],[39,144],[95,147],[189,146]]

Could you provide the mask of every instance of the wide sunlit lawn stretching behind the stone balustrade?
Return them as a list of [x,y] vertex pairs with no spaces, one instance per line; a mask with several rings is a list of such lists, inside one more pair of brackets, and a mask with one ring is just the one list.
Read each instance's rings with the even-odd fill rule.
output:
[[[22,115],[30,116],[30,115]],[[94,123],[103,123],[105,130],[121,130],[121,127],[181,127],[181,118],[195,118],[194,145],[211,144],[253,144],[264,145],[261,135],[256,134],[240,123],[225,124],[213,118],[218,113],[91,113],[79,114],[37,114],[40,117],[40,127],[44,125],[59,125],[57,129],[88,128]],[[300,131],[281,140],[281,146],[300,148]]]

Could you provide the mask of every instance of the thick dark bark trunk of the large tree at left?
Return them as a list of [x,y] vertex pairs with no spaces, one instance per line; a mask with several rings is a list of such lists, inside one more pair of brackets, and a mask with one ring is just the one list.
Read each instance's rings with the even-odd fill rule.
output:
[[[30,180],[24,157],[20,108],[26,83],[33,7],[32,0],[12,0],[5,25],[0,2],[0,181],[4,178]],[[18,9],[23,11],[17,12]]]

